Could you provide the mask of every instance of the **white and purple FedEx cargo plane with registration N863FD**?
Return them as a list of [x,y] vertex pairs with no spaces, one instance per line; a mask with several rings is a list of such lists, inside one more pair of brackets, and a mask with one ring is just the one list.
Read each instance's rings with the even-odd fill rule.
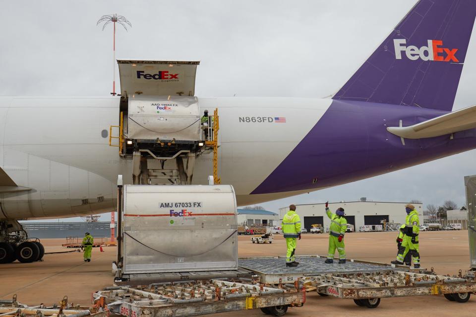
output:
[[[331,99],[190,97],[200,113],[218,108],[222,183],[238,205],[254,204],[476,148],[476,106],[451,112],[475,16],[476,1],[418,1]],[[194,88],[180,62],[127,63],[123,97],[122,80]],[[182,93],[150,106],[174,111]],[[117,175],[132,182],[132,161],[108,146],[120,100],[0,98],[0,228],[116,209]],[[212,164],[211,153],[198,156],[193,183],[205,183]]]

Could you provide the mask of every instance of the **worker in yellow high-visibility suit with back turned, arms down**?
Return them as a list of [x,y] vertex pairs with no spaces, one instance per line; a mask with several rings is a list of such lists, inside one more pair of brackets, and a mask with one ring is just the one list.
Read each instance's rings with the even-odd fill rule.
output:
[[297,266],[299,262],[296,262],[296,238],[301,240],[301,219],[296,213],[296,206],[289,206],[289,211],[284,215],[283,222],[281,223],[283,234],[286,239],[286,247],[288,248],[286,253],[286,266]]

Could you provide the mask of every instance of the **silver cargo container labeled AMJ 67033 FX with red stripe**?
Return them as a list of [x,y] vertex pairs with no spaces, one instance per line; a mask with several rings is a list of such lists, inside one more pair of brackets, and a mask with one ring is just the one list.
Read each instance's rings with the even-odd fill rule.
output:
[[238,269],[230,185],[124,185],[122,273]]

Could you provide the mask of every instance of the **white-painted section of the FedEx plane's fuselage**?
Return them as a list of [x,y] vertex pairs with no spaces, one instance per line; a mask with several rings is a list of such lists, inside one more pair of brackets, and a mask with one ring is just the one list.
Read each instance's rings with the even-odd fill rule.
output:
[[[305,191],[250,195],[293,151],[330,106],[330,99],[199,98],[219,110],[219,175],[238,205]],[[276,122],[284,117],[286,122]],[[269,119],[273,118],[273,120]],[[0,219],[53,218],[116,210],[119,174],[131,183],[131,160],[109,146],[119,124],[119,98],[1,97],[0,166],[18,186],[0,194]],[[213,173],[212,156],[196,161],[193,183]],[[283,181],[286,181],[283,179]]]

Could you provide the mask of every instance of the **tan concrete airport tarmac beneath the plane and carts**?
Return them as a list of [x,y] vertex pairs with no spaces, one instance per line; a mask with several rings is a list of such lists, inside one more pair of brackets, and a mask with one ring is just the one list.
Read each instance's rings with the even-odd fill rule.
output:
[[[388,263],[395,258],[396,232],[362,232],[346,235],[348,259]],[[326,255],[327,234],[303,234],[297,243],[297,255]],[[63,239],[43,239],[46,252],[70,251],[62,248]],[[88,305],[91,293],[112,284],[111,262],[116,248],[93,249],[92,262],[82,261],[81,253],[45,255],[43,262],[0,265],[0,299],[13,294],[29,305],[59,302],[64,295],[69,301]],[[273,244],[252,244],[249,236],[238,237],[240,257],[284,255],[286,245],[282,235],[275,235]],[[420,255],[423,267],[435,268],[438,274],[455,274],[458,269],[468,269],[468,232],[430,231],[420,234]],[[352,300],[321,297],[315,292],[307,294],[307,302],[301,308],[291,308],[286,316],[474,316],[476,295],[467,303],[449,302],[443,296],[414,296],[384,298],[376,309],[358,307]],[[216,314],[221,317],[265,316],[259,310]]]

